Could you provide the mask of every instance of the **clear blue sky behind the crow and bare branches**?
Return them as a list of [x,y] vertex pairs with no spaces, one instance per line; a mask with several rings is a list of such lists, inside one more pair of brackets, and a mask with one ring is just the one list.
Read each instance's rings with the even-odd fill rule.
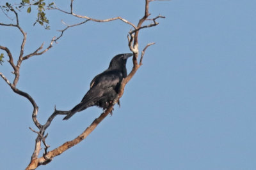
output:
[[[56,4],[64,10],[70,5]],[[148,48],[143,66],[127,84],[121,108],[115,106],[113,116],[88,138],[38,169],[256,169],[255,6],[255,0],[150,3],[152,17],[166,18],[140,32],[140,50],[150,42],[156,45]],[[80,15],[121,16],[135,24],[143,10],[144,0],[74,3]],[[19,14],[28,32],[25,53],[58,36],[61,19],[83,21],[49,11],[51,30],[45,31],[33,27],[35,8],[30,15],[26,10]],[[10,20],[0,12],[0,22]],[[35,99],[42,124],[55,104],[70,110],[79,103],[111,58],[129,52],[129,29],[120,21],[88,22],[66,31],[49,52],[22,63],[17,87]],[[0,44],[17,59],[20,32],[11,27],[0,32]],[[127,67],[131,70],[131,60]],[[12,80],[8,62],[0,71]],[[24,169],[35,145],[36,134],[29,130],[36,129],[33,108],[2,79],[0,89],[0,169]],[[54,119],[47,129],[49,149],[76,138],[100,113],[94,107],[68,121]]]

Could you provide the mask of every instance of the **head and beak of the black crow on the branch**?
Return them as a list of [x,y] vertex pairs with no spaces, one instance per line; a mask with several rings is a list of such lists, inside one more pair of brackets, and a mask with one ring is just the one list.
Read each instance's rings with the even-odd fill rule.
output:
[[131,57],[132,53],[121,53],[113,57],[109,64],[109,69],[125,69],[126,70],[126,62],[129,57]]

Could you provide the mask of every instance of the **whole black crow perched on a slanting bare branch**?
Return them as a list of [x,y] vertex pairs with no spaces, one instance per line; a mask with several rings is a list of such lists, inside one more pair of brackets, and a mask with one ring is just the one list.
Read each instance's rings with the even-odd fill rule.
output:
[[127,76],[126,62],[131,56],[132,53],[122,53],[113,57],[108,69],[93,78],[90,90],[85,94],[81,103],[72,108],[63,120],[68,120],[78,111],[90,106],[99,106],[106,110],[109,104],[116,103],[121,82]]

